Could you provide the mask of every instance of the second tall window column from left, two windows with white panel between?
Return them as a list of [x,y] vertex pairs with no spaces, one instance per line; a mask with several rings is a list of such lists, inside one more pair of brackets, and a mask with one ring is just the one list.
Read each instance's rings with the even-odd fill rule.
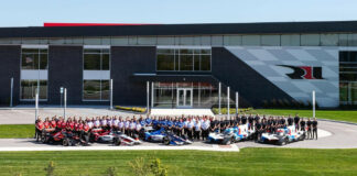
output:
[[109,101],[109,77],[99,76],[98,78],[98,74],[105,75],[106,72],[110,70],[110,50],[85,48],[83,58],[85,75],[83,80],[83,100]]

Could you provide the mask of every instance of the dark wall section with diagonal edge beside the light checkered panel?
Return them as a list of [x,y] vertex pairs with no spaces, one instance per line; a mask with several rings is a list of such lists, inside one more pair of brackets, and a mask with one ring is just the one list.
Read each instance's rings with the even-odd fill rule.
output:
[[224,47],[212,48],[212,74],[253,107],[262,106],[263,100],[293,100]]

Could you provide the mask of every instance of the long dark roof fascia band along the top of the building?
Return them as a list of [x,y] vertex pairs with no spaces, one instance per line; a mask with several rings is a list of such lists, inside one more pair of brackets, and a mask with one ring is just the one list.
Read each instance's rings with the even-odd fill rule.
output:
[[0,28],[0,37],[351,33],[357,21]]

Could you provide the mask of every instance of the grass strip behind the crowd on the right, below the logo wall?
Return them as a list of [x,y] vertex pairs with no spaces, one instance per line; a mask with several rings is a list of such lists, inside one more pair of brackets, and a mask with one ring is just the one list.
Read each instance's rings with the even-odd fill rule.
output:
[[[218,110],[213,110],[215,113]],[[229,109],[231,114],[236,113],[236,109]],[[227,109],[221,109],[221,113],[227,113]],[[312,117],[312,110],[294,110],[294,109],[249,109],[242,113],[252,114],[272,114],[272,116],[289,116],[294,117],[299,113],[300,117]],[[339,121],[357,122],[357,110],[316,110],[316,118],[331,119]]]

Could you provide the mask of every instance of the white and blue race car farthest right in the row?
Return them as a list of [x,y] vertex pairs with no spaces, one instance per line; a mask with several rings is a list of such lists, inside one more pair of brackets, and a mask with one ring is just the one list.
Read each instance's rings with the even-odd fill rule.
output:
[[278,129],[275,133],[262,133],[261,138],[258,139],[260,143],[270,143],[278,145],[286,145],[291,142],[305,140],[304,131],[296,131],[294,125]]

